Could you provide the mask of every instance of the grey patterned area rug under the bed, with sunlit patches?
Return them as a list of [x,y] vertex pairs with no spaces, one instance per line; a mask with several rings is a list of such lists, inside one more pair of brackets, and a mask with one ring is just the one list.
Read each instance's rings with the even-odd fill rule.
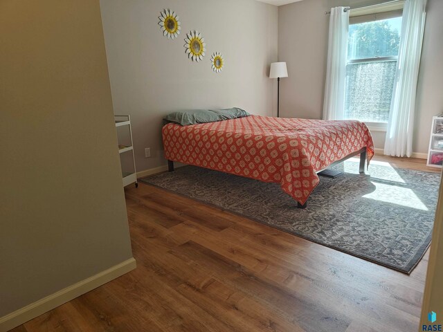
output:
[[356,159],[333,168],[345,174],[320,177],[304,210],[276,183],[200,167],[141,181],[409,274],[431,242],[440,174],[379,161],[359,174]]

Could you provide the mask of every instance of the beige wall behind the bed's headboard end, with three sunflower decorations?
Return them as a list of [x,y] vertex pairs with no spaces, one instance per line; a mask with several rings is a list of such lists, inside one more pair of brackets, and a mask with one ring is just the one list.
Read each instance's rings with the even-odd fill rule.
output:
[[[138,171],[165,165],[162,118],[170,111],[242,107],[276,114],[276,82],[269,64],[277,60],[278,8],[255,0],[102,0],[103,27],[114,113],[132,117]],[[181,35],[163,37],[163,8],[177,12]],[[193,63],[183,47],[190,30],[207,43],[206,57]],[[210,56],[226,58],[216,74]],[[274,89],[273,89],[274,88]],[[145,147],[152,158],[145,158]]]

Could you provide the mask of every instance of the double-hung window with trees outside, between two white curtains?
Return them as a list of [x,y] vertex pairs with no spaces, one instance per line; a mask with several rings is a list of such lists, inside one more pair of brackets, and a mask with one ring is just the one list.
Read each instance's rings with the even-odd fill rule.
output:
[[367,122],[376,130],[386,129],[400,30],[401,10],[350,17],[345,119]]

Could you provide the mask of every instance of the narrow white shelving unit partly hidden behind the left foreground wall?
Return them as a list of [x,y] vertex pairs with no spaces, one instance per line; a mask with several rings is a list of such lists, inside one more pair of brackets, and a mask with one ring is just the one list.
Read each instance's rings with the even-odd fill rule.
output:
[[[116,122],[118,153],[120,154],[120,165],[122,167],[123,187],[130,185],[131,183],[135,183],[136,187],[138,187],[134,143],[132,141],[131,117],[129,115],[114,116],[114,121]],[[123,130],[126,132],[123,132]],[[127,156],[128,154],[131,154],[131,156]]]

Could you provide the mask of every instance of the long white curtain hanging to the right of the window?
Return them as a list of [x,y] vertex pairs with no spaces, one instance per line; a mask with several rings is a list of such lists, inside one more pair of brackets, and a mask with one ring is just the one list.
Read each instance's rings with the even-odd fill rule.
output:
[[410,157],[413,153],[415,95],[422,54],[427,0],[406,0],[394,91],[390,104],[384,153]]

